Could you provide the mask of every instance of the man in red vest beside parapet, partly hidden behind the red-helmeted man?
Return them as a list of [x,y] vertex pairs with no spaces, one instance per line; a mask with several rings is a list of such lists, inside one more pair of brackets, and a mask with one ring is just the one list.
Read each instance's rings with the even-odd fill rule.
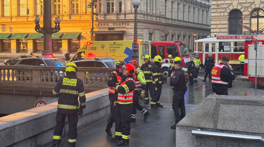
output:
[[114,123],[114,117],[116,112],[116,106],[114,106],[114,101],[117,100],[116,88],[114,87],[117,83],[119,83],[123,77],[123,65],[124,62],[118,61],[116,62],[116,70],[113,71],[108,78],[107,85],[109,86],[109,100],[110,100],[110,116],[107,120],[107,126],[105,132],[107,135],[112,136],[111,128]]

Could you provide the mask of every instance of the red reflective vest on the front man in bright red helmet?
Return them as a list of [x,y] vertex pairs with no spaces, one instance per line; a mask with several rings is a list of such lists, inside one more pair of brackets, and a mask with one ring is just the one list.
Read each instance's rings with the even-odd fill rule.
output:
[[[134,80],[132,78],[128,78],[124,82],[122,82],[120,84],[120,86],[123,86],[129,80],[134,82]],[[128,93],[118,93],[117,103],[119,103],[119,104],[130,104],[130,103],[133,103],[133,93],[134,93],[134,90],[129,91]]]

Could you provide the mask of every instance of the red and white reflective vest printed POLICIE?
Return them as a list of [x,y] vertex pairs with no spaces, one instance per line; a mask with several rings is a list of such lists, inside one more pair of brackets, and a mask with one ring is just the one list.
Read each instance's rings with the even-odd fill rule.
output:
[[220,79],[220,73],[223,67],[227,67],[227,66],[225,66],[224,64],[218,64],[213,67],[212,69],[212,82],[213,83],[228,85],[227,82],[224,82]]

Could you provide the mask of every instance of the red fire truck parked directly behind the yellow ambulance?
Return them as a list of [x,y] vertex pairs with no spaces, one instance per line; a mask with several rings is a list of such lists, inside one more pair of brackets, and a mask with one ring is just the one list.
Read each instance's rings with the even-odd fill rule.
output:
[[172,55],[173,58],[180,57],[182,67],[186,66],[186,63],[190,61],[190,54],[188,52],[188,46],[184,41],[151,41],[151,62],[154,62],[154,57],[160,55],[163,59],[161,65],[161,72],[163,77],[168,77],[168,55]]

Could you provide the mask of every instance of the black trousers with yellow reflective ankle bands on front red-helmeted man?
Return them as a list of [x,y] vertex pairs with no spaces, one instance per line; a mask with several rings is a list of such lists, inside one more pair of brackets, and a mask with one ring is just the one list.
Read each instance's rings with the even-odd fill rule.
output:
[[133,103],[116,103],[116,105],[117,109],[115,114],[115,136],[122,136],[121,140],[127,142],[130,138],[130,116]]

